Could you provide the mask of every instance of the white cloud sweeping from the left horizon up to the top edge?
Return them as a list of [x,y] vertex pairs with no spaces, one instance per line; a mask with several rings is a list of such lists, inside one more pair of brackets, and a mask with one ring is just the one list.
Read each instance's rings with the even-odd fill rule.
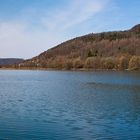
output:
[[[62,9],[46,11],[43,16],[40,13],[39,17],[33,15],[37,27],[32,25],[32,20],[1,22],[0,57],[30,58],[61,43],[66,38],[65,32],[78,28],[102,11],[106,3],[107,0],[71,0]],[[29,19],[27,12],[26,18]]]

